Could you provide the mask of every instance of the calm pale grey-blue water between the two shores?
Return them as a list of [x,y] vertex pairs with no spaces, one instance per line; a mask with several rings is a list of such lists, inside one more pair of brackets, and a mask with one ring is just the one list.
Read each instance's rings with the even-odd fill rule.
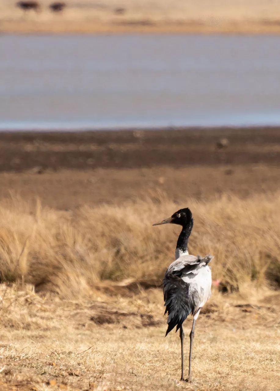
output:
[[0,129],[280,125],[280,37],[0,36]]

